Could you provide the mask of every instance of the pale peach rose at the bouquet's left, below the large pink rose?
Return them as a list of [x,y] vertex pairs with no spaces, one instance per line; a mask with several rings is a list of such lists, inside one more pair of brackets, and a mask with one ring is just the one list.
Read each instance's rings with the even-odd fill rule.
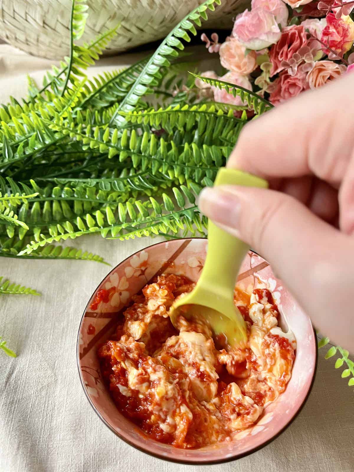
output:
[[257,53],[250,51],[245,56],[246,48],[232,38],[221,44],[219,54],[222,67],[236,72],[240,76],[248,76],[257,67]]

